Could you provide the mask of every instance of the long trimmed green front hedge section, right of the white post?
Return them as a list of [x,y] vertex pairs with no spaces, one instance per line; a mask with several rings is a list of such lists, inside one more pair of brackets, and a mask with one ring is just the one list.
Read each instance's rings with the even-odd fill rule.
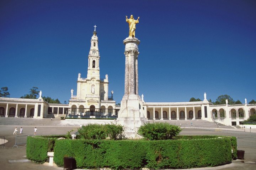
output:
[[54,162],[74,157],[77,168],[169,169],[216,166],[232,160],[230,137],[193,140],[57,140]]

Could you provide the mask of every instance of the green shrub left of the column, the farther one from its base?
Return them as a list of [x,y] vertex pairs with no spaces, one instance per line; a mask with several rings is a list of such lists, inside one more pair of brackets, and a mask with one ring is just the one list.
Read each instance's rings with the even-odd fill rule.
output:
[[79,134],[84,139],[105,139],[107,137],[104,125],[89,124],[78,129]]

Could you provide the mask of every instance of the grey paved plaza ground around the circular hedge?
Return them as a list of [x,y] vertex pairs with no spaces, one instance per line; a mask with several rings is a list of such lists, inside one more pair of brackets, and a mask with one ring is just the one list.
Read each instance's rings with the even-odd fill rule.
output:
[[[5,136],[7,143],[5,143],[5,148],[0,146],[0,169],[1,170],[60,170],[63,169],[61,167],[53,167],[48,165],[41,165],[33,163],[26,158],[26,146],[19,146],[12,148],[15,145],[15,136],[13,135],[13,131],[16,127],[13,125],[1,125],[3,124],[4,119],[0,119],[0,136]],[[7,120],[7,119],[6,119]],[[46,126],[42,124],[54,124],[55,126]],[[12,121],[15,123],[15,121]],[[32,122],[30,122],[32,124]],[[37,127],[37,135],[49,135],[49,134],[66,134],[66,132],[70,130],[76,130],[79,126],[58,126],[60,124],[59,119],[55,119],[50,121],[50,119],[43,119],[41,122],[37,121],[36,123],[40,124],[39,126],[33,125],[22,125],[23,134],[22,135],[33,135],[33,129],[35,126]],[[18,123],[17,123],[18,124]],[[48,125],[48,124],[47,124]],[[20,129],[20,125],[17,126],[18,130]],[[18,131],[19,135],[19,131]],[[200,128],[199,125],[197,127],[185,127],[181,132],[181,135],[227,135],[227,136],[236,136],[236,137],[256,137],[256,131],[252,130],[249,132],[246,129],[216,129],[216,128]],[[250,139],[250,138],[249,138]],[[255,138],[252,138],[254,140]],[[208,168],[195,168],[193,170],[252,170],[256,168],[256,147],[239,147],[239,150],[245,151],[245,159],[244,160],[234,160],[231,164],[226,164],[217,167],[208,167]]]

